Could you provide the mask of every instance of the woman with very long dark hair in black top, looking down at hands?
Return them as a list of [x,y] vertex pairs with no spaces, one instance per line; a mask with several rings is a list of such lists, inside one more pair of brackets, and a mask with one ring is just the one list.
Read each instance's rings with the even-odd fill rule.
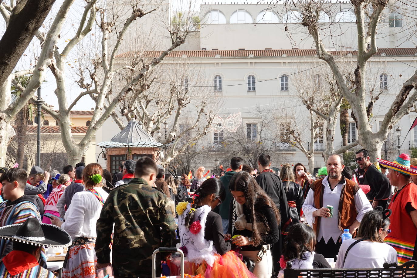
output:
[[[241,246],[241,254],[253,260],[254,275],[270,278],[272,274],[271,244],[279,240],[280,215],[274,202],[266,195],[256,180],[246,172],[233,175],[230,192],[236,200],[235,210],[239,217],[229,218],[229,231],[237,235],[232,243]],[[238,229],[239,228],[239,229]]]

